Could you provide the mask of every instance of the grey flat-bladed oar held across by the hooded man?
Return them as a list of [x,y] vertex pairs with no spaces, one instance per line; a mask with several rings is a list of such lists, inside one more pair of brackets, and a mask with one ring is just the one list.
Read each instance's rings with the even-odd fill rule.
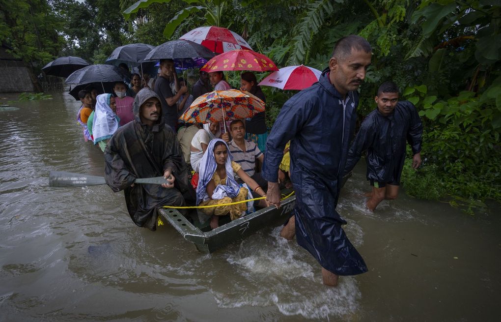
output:
[[[162,185],[167,181],[164,177],[142,178],[134,180],[135,184]],[[63,171],[51,171],[49,173],[49,186],[51,187],[84,187],[106,185],[104,177],[75,174]]]

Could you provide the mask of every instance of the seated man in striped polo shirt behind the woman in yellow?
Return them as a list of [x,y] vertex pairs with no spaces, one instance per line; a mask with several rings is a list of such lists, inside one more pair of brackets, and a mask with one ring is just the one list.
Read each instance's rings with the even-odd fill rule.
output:
[[[233,161],[242,167],[242,170],[266,191],[268,182],[261,178],[261,173],[256,172],[256,159],[263,164],[265,155],[256,143],[245,139],[245,125],[242,120],[232,121],[229,125],[229,131],[233,137],[228,143]],[[235,179],[240,182],[239,178]]]

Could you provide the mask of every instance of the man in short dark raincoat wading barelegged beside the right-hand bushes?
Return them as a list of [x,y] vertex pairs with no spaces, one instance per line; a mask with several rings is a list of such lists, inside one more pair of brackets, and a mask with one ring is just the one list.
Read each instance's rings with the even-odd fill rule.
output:
[[377,108],[362,122],[348,152],[345,173],[353,170],[363,151],[367,150],[367,180],[372,193],[367,208],[398,196],[400,175],[405,160],[405,145],[412,148],[412,167],[421,164],[423,126],[416,107],[409,101],[398,101],[398,87],[392,82],[379,86],[375,97]]

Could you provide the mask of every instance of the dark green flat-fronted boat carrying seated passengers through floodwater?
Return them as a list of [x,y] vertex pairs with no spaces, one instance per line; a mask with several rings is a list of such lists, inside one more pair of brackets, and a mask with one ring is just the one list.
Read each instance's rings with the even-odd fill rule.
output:
[[161,208],[158,210],[158,214],[162,220],[165,219],[171,224],[184,239],[194,243],[200,252],[212,253],[226,244],[252,235],[273,222],[276,224],[285,223],[295,204],[296,197],[292,196],[283,200],[278,209],[270,206],[207,232],[197,228],[176,209]]

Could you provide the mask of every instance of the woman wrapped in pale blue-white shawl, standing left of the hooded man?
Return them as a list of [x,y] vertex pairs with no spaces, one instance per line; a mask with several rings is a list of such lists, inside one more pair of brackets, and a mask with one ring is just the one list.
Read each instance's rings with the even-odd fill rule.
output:
[[99,147],[104,152],[108,139],[120,126],[120,118],[115,114],[117,105],[113,95],[101,94],[96,99],[92,135],[94,137],[94,144],[99,144]]

